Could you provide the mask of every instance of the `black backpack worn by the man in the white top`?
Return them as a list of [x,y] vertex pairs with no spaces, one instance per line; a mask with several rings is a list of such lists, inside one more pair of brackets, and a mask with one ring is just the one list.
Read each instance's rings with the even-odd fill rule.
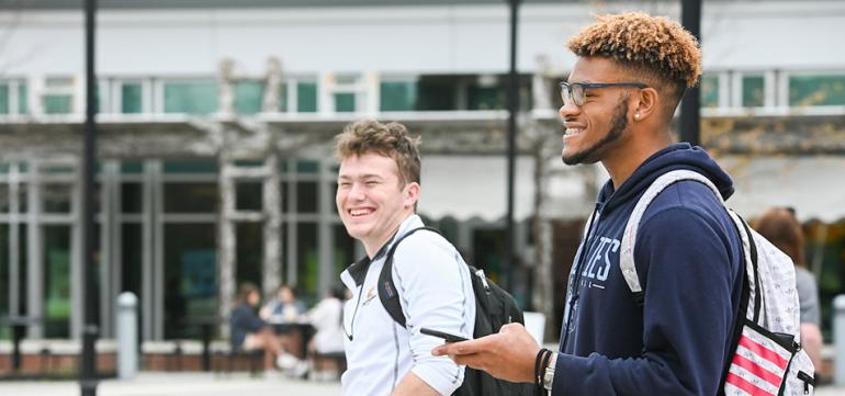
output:
[[[431,227],[419,227],[409,230],[393,244],[391,250],[384,259],[384,267],[379,274],[379,299],[381,299],[384,309],[391,315],[393,320],[405,327],[405,314],[402,312],[396,285],[393,283],[393,253],[399,242],[412,234],[425,229],[428,231],[440,231]],[[509,323],[520,323],[525,325],[522,310],[517,306],[514,297],[491,281],[484,271],[467,264],[472,279],[472,290],[475,294],[475,331],[474,338],[498,332],[503,325]],[[390,288],[387,288],[390,287]],[[390,296],[390,297],[388,297]],[[466,367],[463,374],[463,384],[452,395],[503,395],[519,396],[534,395],[533,384],[516,384],[504,380],[494,378],[492,375],[471,367]]]

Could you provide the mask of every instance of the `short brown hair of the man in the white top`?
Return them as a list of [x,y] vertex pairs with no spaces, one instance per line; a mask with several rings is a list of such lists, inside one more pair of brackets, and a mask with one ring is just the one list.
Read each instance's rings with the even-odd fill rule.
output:
[[335,136],[335,156],[338,161],[375,152],[396,161],[399,186],[419,183],[421,165],[417,145],[420,138],[412,137],[405,125],[362,120],[347,125],[342,133]]

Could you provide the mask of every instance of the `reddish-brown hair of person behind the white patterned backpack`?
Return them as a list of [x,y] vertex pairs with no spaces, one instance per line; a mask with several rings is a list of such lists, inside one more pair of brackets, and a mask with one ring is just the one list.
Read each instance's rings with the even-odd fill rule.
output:
[[804,234],[791,210],[769,208],[754,222],[754,228],[771,245],[787,253],[796,265],[807,267],[804,263]]

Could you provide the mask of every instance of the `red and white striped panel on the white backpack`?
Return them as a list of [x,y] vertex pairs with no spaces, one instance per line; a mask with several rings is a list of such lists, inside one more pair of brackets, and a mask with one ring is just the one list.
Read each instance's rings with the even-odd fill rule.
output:
[[725,395],[776,396],[792,353],[744,326],[724,381]]

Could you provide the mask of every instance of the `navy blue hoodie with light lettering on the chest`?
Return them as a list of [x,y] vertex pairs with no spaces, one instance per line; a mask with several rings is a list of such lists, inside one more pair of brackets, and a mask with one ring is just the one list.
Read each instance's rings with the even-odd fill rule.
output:
[[724,199],[733,193],[731,178],[688,144],[654,154],[617,191],[611,181],[605,184],[570,273],[553,395],[717,394],[743,261],[736,229],[712,191],[681,181],[645,211],[634,245],[642,308],[619,270],[634,205],[657,177],[675,169],[702,173]]

